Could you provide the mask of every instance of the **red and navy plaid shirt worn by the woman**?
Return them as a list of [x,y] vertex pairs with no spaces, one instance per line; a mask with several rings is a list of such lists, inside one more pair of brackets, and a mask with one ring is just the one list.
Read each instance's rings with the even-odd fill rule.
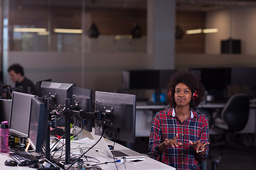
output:
[[[177,142],[180,147],[168,146],[162,154],[158,154],[158,146],[165,139],[173,139],[178,134]],[[174,108],[160,111],[154,115],[149,137],[149,153],[155,154],[161,162],[176,169],[200,169],[200,162],[208,156],[209,147],[206,145],[206,155],[199,157],[196,149],[189,144],[189,140],[203,143],[209,142],[208,118],[191,108],[191,116],[181,123]]]

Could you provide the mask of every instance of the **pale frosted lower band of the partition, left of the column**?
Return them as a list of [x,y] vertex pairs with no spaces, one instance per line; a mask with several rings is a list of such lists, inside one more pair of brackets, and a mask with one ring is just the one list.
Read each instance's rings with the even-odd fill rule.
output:
[[[34,83],[56,82],[82,85],[81,54],[72,52],[9,52],[8,65],[20,63]],[[122,86],[122,69],[152,69],[154,59],[144,53],[86,53],[85,88],[114,91]],[[14,85],[8,77],[7,84]]]

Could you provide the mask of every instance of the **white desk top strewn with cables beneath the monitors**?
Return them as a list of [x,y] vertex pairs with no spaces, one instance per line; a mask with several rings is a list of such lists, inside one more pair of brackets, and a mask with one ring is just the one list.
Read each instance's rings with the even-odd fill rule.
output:
[[[88,132],[86,132],[87,134],[89,134]],[[82,137],[87,136],[86,135],[82,135]],[[92,139],[91,135],[90,138]],[[107,145],[113,145],[113,142],[110,140],[106,140]],[[80,147],[84,148],[84,152],[87,150],[88,147],[90,147],[91,145],[93,145],[93,143],[89,144],[75,144],[73,142],[71,142],[71,152],[73,154],[77,153],[80,154]],[[79,147],[80,146],[80,147]],[[127,147],[124,147],[122,145],[119,144],[115,144],[114,145],[115,149],[128,149]],[[112,162],[113,159],[108,157],[105,154],[102,154],[101,152],[99,152],[99,149],[97,147],[95,147],[95,149],[91,149],[89,152],[87,152],[86,154],[87,156],[90,157],[95,157],[98,160],[100,160],[100,162]],[[28,166],[5,166],[4,162],[6,159],[10,159],[9,155],[6,153],[0,153],[0,169],[4,169],[4,170],[26,170],[26,169],[30,169],[28,168]],[[144,161],[142,162],[137,162],[135,164],[129,163],[129,162],[125,162],[124,164],[122,164],[123,162],[118,162],[117,163],[117,167],[119,170],[132,170],[132,169],[142,169],[142,170],[174,170],[173,167],[168,166],[166,164],[163,164],[161,162],[158,162],[154,159],[151,159],[149,157],[146,157]],[[115,165],[112,164],[102,164],[100,165],[100,167],[104,170],[113,170],[116,169]],[[31,170],[31,169],[30,169]]]

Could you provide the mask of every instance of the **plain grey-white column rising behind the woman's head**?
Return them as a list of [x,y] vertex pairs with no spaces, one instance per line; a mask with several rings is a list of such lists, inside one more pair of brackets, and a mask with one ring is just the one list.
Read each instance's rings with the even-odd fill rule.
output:
[[147,1],[147,52],[154,69],[175,69],[176,0]]

